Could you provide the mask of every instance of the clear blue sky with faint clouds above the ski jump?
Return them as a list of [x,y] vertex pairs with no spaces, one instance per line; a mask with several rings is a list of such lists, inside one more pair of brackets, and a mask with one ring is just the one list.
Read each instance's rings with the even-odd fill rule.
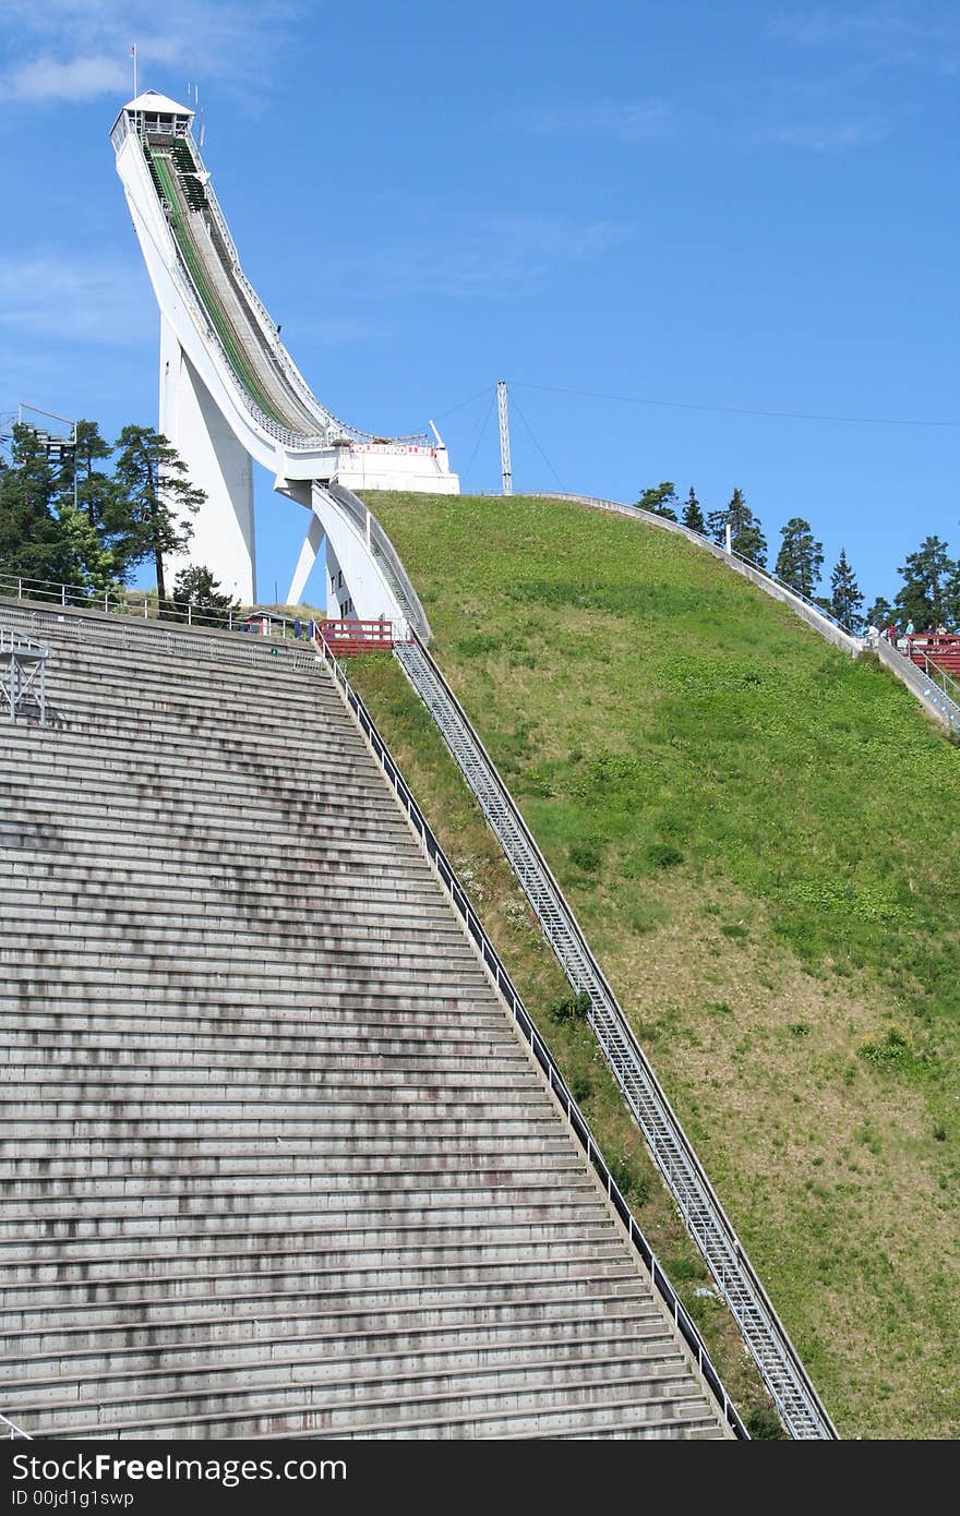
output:
[[[136,42],[141,88],[199,83],[244,267],[338,415],[432,415],[494,491],[505,377],[516,490],[739,485],[772,556],[804,515],[867,597],[928,534],[960,555],[954,5],[3,0],[0,27],[0,412],[156,421],[108,139]],[[265,479],[258,512],[271,599],[302,514]]]

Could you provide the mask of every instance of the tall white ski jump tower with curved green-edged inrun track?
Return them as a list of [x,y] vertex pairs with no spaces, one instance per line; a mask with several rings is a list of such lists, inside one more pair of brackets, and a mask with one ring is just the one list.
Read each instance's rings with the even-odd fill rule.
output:
[[224,590],[253,600],[255,459],[273,475],[275,490],[309,511],[288,603],[300,600],[326,543],[328,611],[402,620],[372,546],[370,517],[364,523],[359,502],[344,491],[458,494],[446,447],[432,421],[432,440],[373,437],[320,405],[240,267],[193,139],[193,117],[149,89],[111,130],[161,309],[159,431],[206,491],[190,558],[171,559],[171,567],[205,564]]

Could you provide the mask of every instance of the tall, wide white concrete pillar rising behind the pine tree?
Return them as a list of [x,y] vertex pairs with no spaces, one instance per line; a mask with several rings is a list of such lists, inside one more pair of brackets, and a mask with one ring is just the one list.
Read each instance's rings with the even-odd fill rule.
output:
[[203,564],[243,605],[256,593],[253,465],[161,315],[159,429],[187,464],[190,482],[206,491],[193,522],[190,547],[170,555],[167,582],[190,564]]

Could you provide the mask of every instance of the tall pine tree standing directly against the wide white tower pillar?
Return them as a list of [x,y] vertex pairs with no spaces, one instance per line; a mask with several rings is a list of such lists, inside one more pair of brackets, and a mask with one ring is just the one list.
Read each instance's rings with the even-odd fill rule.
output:
[[187,478],[187,464],[167,438],[149,426],[124,426],[117,438],[120,456],[114,473],[117,491],[105,528],[126,578],[136,564],[153,558],[156,591],[167,599],[164,555],[182,553],[193,537],[191,515],[206,499]]

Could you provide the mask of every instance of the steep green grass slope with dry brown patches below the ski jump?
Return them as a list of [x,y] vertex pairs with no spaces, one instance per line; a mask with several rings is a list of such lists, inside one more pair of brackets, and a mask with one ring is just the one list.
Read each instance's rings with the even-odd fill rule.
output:
[[[549,499],[370,505],[840,1433],[955,1436],[960,752],[678,535]],[[425,713],[364,662],[482,894]],[[516,888],[479,904],[543,1008]]]

